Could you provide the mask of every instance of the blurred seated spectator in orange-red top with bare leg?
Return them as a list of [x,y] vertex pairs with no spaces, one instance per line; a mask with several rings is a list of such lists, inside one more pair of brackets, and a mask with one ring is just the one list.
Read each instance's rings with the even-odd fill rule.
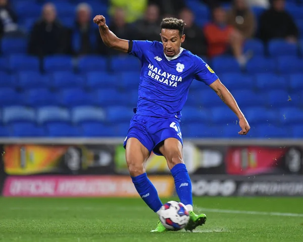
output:
[[215,57],[224,54],[233,54],[239,65],[245,66],[247,60],[242,54],[243,37],[226,22],[226,12],[221,7],[213,10],[213,22],[204,27],[208,43],[208,56]]

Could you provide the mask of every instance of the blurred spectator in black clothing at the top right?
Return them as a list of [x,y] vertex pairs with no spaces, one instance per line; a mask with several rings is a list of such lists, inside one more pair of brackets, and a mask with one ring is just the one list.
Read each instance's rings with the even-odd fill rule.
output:
[[273,0],[271,8],[260,17],[260,38],[265,42],[274,38],[296,42],[297,37],[298,29],[285,11],[285,1]]

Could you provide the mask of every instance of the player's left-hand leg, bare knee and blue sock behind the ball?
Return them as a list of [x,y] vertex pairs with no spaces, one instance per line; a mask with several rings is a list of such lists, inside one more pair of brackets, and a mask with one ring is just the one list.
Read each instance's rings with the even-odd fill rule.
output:
[[[155,213],[158,213],[159,215],[160,209],[162,207],[162,202],[159,199],[156,187],[148,179],[144,168],[144,164],[150,155],[150,151],[145,146],[143,146],[138,138],[130,137],[126,142],[125,149],[128,170],[132,182],[134,183],[134,186],[140,197],[151,210],[153,210]],[[142,139],[142,137],[140,137],[140,139]],[[148,142],[145,145],[148,147]],[[159,230],[161,229],[163,231],[166,230],[163,225],[162,227],[159,227]]]

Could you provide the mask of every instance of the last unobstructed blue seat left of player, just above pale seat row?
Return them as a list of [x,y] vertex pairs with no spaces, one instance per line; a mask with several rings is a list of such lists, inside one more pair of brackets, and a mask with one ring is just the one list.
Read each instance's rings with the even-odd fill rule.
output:
[[100,106],[121,105],[125,103],[127,95],[117,89],[104,88],[95,93],[94,103]]

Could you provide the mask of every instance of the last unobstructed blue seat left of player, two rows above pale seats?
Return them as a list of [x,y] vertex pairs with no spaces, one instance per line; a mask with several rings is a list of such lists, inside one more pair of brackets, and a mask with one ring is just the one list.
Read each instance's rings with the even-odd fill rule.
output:
[[[119,75],[120,76],[120,75]],[[89,88],[102,88],[103,86],[114,87],[119,83],[120,78],[118,75],[109,74],[107,72],[88,72],[86,75],[86,85]]]

